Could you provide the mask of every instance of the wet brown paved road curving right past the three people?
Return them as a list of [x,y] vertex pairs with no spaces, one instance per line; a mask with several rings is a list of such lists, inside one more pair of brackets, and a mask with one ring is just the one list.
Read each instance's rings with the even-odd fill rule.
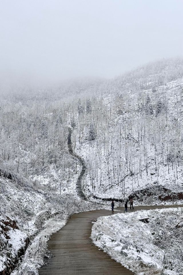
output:
[[[183,207],[183,205],[179,205]],[[142,209],[178,207],[174,206],[142,206]],[[118,207],[114,214],[122,212]],[[130,212],[130,209],[128,209]],[[108,210],[96,210],[74,214],[67,224],[51,236],[48,242],[53,258],[49,264],[39,269],[40,275],[132,275],[130,270],[111,259],[108,254],[99,251],[91,239],[92,221],[100,216],[112,215]],[[125,214],[128,215],[128,214]]]

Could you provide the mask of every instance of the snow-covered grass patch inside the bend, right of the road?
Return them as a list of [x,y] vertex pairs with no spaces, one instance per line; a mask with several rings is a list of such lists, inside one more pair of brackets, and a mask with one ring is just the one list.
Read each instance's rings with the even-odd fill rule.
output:
[[[183,273],[183,209],[156,209],[100,217],[91,238],[139,275]],[[163,273],[164,272],[164,273]]]

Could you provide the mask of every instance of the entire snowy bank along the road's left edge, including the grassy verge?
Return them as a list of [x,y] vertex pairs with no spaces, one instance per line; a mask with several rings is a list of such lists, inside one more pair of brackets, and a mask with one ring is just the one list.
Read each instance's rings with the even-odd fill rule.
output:
[[47,240],[73,213],[104,207],[71,193],[25,188],[12,180],[0,182],[0,274],[10,274],[28,246],[15,274],[37,272],[47,253]]

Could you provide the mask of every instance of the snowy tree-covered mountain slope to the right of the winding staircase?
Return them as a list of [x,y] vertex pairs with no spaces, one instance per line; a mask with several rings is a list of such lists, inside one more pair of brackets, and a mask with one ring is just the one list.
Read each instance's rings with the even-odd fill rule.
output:
[[163,197],[168,189],[182,198],[182,68],[180,60],[148,64],[109,83],[90,99],[91,111],[78,103],[73,142],[88,162],[88,195],[121,199],[151,189]]

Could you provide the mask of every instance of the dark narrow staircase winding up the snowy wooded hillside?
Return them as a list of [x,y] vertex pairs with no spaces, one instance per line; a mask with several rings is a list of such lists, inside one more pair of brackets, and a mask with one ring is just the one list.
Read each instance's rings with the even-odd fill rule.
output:
[[76,182],[76,192],[77,192],[77,195],[82,198],[82,199],[87,199],[85,194],[83,193],[83,188],[82,188],[82,182],[83,182],[83,179],[85,178],[85,172],[86,172],[86,163],[85,163],[85,160],[83,158],[81,158],[80,156],[78,156],[77,154],[75,154],[72,150],[72,144],[71,144],[71,133],[72,133],[72,129],[69,128],[68,129],[69,133],[68,133],[68,136],[67,136],[67,146],[68,146],[68,149],[69,149],[69,153],[71,155],[73,155],[75,158],[77,158],[82,166],[82,169],[81,169],[81,172],[79,173],[79,177],[77,179],[77,182]]

